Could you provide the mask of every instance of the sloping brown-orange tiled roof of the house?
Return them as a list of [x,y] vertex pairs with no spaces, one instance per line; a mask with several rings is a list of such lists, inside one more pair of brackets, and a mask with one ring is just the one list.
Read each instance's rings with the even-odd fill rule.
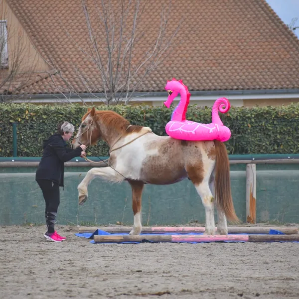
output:
[[[101,9],[101,1],[98,2],[94,13]],[[102,91],[99,70],[79,48],[89,51],[81,0],[8,3],[38,52],[56,66],[56,74],[19,92],[57,93],[57,88],[69,92],[70,86],[80,93]],[[94,1],[89,3],[93,5]],[[138,23],[138,33],[144,35],[135,44],[136,65],[148,45],[154,43],[160,11],[168,1],[148,3]],[[158,69],[147,75],[137,91],[163,91],[166,80],[172,77],[183,79],[190,91],[299,88],[299,40],[265,0],[172,0],[167,17],[170,31],[182,18],[173,41],[176,47]],[[100,51],[106,55],[105,30],[99,28],[97,34],[103,39]]]

